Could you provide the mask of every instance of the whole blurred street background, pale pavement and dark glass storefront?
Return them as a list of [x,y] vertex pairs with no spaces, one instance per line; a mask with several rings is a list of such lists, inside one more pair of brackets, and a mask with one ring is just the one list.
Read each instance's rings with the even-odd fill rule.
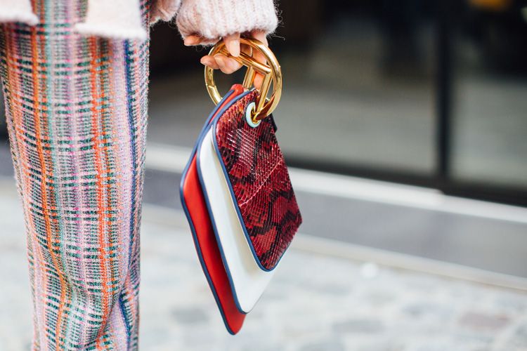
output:
[[[152,28],[144,348],[527,350],[527,1],[304,0],[280,11],[274,115],[304,225],[236,338],[177,196],[213,107],[207,51],[183,46],[173,25]],[[241,80],[222,77],[223,91]],[[18,211],[4,119],[0,135],[0,205]],[[15,293],[28,285],[17,218],[0,239],[4,317],[30,306],[29,292]],[[0,328],[0,350],[27,347],[29,322]]]

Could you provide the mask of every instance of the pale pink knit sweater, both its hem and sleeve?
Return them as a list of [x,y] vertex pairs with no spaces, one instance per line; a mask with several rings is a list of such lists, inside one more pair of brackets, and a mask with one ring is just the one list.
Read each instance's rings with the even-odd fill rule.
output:
[[[271,33],[278,25],[273,0],[152,0],[152,23],[176,17],[181,36],[197,34],[212,44],[227,34],[259,29]],[[0,22],[34,25],[31,0],[0,0]],[[145,39],[138,0],[88,0],[88,13],[77,30],[86,35]]]

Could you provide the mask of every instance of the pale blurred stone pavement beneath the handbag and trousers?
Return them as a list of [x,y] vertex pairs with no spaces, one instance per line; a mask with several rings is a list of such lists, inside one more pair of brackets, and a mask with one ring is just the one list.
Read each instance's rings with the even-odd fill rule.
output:
[[[11,182],[0,182],[0,216],[0,350],[28,350],[25,238]],[[527,350],[527,293],[294,247],[230,336],[182,214],[145,206],[141,236],[142,350]]]

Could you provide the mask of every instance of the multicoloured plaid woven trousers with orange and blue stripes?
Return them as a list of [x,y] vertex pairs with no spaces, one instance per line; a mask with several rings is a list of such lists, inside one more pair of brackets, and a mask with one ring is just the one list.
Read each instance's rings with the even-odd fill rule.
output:
[[136,350],[148,41],[80,37],[85,0],[33,9],[39,25],[0,27],[33,349]]

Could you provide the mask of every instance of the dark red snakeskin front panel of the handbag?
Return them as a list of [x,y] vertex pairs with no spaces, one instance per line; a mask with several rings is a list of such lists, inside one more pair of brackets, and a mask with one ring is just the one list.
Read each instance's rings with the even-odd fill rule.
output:
[[272,117],[252,128],[245,108],[256,91],[216,122],[216,140],[251,244],[261,266],[272,270],[302,222]]

